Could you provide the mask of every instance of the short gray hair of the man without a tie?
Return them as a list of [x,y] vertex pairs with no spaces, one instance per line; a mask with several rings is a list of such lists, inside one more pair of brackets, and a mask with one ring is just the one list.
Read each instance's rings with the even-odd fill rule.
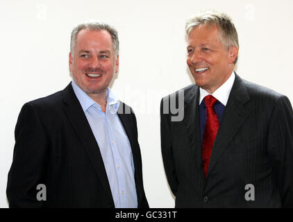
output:
[[110,26],[109,24],[103,23],[103,22],[97,22],[97,21],[90,21],[90,22],[84,22],[81,24],[76,25],[72,30],[72,35],[70,39],[70,52],[74,53],[74,48],[76,44],[76,36],[79,33],[79,31],[87,29],[90,31],[100,31],[100,30],[106,30],[110,35],[112,36],[112,43],[113,48],[115,51],[116,56],[119,55],[119,40],[118,40],[118,33],[117,30]]

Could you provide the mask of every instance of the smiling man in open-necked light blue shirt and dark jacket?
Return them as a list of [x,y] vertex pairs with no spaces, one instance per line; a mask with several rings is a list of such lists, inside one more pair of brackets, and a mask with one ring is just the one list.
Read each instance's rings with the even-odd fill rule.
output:
[[135,114],[108,88],[119,65],[117,31],[80,24],[70,46],[72,83],[19,114],[9,206],[149,207]]

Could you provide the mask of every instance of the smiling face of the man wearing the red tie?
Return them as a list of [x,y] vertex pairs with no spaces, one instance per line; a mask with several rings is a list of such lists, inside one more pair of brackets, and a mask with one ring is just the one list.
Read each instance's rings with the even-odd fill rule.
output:
[[211,94],[231,75],[237,53],[237,47],[222,44],[215,25],[196,26],[187,37],[187,65],[196,85]]

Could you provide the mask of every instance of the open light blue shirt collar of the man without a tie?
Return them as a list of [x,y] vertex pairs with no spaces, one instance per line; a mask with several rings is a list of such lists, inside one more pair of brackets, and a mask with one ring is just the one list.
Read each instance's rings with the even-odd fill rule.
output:
[[[101,110],[101,105],[96,103],[90,96],[88,96],[83,89],[78,87],[78,85],[72,80],[72,88],[74,89],[74,93],[76,94],[76,97],[81,103],[81,108],[83,108],[83,112],[88,110],[93,105],[97,105],[99,107],[99,110]],[[119,100],[115,97],[115,95],[112,93],[111,89],[108,87],[107,88],[107,93],[106,93],[106,101],[107,101],[107,107],[106,107],[106,112],[110,111],[111,113],[115,114],[119,108],[120,102]]]

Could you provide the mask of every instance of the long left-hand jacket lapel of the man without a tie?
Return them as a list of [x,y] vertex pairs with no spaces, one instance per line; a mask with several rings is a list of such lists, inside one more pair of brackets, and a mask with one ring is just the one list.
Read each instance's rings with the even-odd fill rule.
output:
[[78,135],[78,137],[81,139],[81,142],[90,157],[92,165],[97,172],[97,176],[99,176],[103,186],[112,198],[108,177],[103,164],[99,146],[96,139],[94,138],[90,124],[85,117],[85,113],[81,108],[81,104],[74,94],[71,83],[69,83],[69,85],[63,90],[63,101],[65,103],[65,112],[69,118],[69,121],[72,123],[74,130],[76,131],[76,135]]

